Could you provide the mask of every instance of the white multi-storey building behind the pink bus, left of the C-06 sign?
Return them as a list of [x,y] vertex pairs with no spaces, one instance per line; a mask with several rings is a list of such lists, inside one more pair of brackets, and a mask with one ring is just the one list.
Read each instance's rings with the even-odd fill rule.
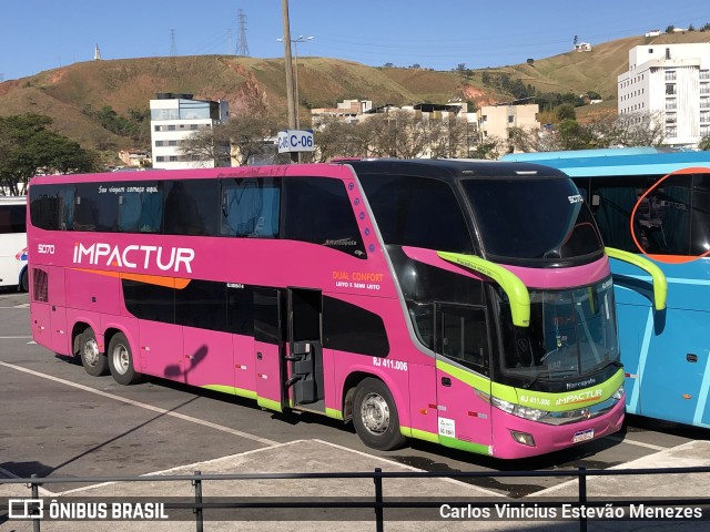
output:
[[[214,158],[185,158],[180,144],[204,127],[229,119],[227,102],[193,100],[192,94],[159,93],[151,100],[151,144],[154,168],[212,168]],[[225,146],[229,153],[229,146]]]

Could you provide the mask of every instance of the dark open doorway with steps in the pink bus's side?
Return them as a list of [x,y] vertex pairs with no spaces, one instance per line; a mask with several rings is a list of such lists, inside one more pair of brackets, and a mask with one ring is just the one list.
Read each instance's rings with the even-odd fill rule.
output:
[[288,289],[286,395],[293,407],[325,412],[321,290]]

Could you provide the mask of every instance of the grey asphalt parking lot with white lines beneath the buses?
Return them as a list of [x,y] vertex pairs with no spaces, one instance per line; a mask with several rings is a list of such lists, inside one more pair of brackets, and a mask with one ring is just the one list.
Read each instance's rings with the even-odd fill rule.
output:
[[[650,464],[646,467],[673,467],[669,457],[674,449],[710,441],[709,431],[631,417],[619,434],[529,460],[506,462],[424,442],[378,452],[364,447],[339,421],[276,415],[254,401],[160,379],[123,387],[111,377],[91,377],[79,362],[32,341],[28,296],[11,290],[0,293],[0,475],[6,478],[142,475],[276,450],[283,451],[277,459],[239,459],[240,471],[268,472],[270,466],[287,464],[291,471],[307,472],[313,464],[296,452],[304,447],[298,442],[337,449],[328,453],[335,462],[328,468],[336,471],[348,471],[355,463],[369,470],[438,472],[609,469],[639,460]],[[496,497],[521,498],[564,487],[569,479],[458,482]],[[90,488],[91,483],[51,484],[47,493]]]

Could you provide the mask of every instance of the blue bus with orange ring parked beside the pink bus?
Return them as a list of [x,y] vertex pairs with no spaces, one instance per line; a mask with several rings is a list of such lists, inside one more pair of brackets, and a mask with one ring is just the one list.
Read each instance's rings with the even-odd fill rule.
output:
[[627,412],[710,427],[710,152],[637,147],[503,158],[567,173],[605,245],[661,268],[668,301],[657,311],[650,277],[611,260]]

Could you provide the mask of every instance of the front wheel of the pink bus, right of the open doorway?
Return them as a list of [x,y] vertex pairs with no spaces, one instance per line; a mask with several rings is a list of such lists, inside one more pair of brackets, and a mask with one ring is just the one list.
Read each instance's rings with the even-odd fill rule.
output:
[[366,378],[357,385],[353,398],[353,424],[363,443],[381,451],[405,444],[399,416],[389,389],[379,379]]

